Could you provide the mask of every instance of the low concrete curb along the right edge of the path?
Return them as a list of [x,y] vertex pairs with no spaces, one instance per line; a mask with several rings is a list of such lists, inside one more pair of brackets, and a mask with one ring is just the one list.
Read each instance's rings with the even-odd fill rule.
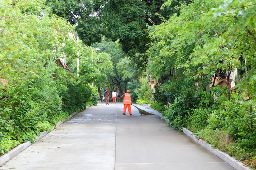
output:
[[[169,122],[168,119],[166,119],[162,113],[150,108],[149,106],[146,105],[140,105],[140,104],[133,104],[137,107],[139,107],[142,110],[148,111],[150,110],[150,113],[154,113],[155,115],[158,115],[161,117],[161,119],[165,119],[166,122]],[[196,143],[200,144],[202,147],[206,148],[208,151],[219,157],[221,160],[225,161],[228,163],[230,166],[235,168],[236,170],[252,170],[249,167],[246,167],[242,162],[237,161],[233,157],[229,156],[228,154],[219,151],[218,149],[214,149],[210,144],[206,143],[205,141],[198,139],[196,135],[193,135],[191,131],[188,129],[184,128],[182,129],[183,133],[189,136],[193,141]]]

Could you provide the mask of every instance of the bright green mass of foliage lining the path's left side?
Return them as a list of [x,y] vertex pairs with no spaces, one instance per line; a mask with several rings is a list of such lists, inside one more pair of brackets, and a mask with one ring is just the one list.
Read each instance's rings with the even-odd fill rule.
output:
[[[82,65],[78,77],[57,64],[65,53],[70,65],[74,65],[76,49],[82,46],[69,37],[73,26],[67,21],[53,15],[38,0],[1,0],[0,16],[0,155],[3,155],[19,144],[33,142],[40,132],[51,130],[73,112],[96,104],[93,96],[97,94],[89,84],[95,77],[92,68]],[[83,51],[82,58],[84,49],[79,49]]]

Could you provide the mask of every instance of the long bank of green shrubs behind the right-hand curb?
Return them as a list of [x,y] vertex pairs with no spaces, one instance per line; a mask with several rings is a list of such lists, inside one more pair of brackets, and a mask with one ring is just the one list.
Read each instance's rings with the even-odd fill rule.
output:
[[[228,100],[227,90],[221,87],[210,91],[197,90],[194,96],[179,94],[172,104],[164,106],[162,113],[170,126],[179,129],[187,126],[198,138],[255,168],[252,161],[256,153],[255,100],[247,100],[246,95],[235,92]],[[199,103],[191,107],[189,102],[193,102],[189,99]],[[151,107],[157,108],[154,104]]]

